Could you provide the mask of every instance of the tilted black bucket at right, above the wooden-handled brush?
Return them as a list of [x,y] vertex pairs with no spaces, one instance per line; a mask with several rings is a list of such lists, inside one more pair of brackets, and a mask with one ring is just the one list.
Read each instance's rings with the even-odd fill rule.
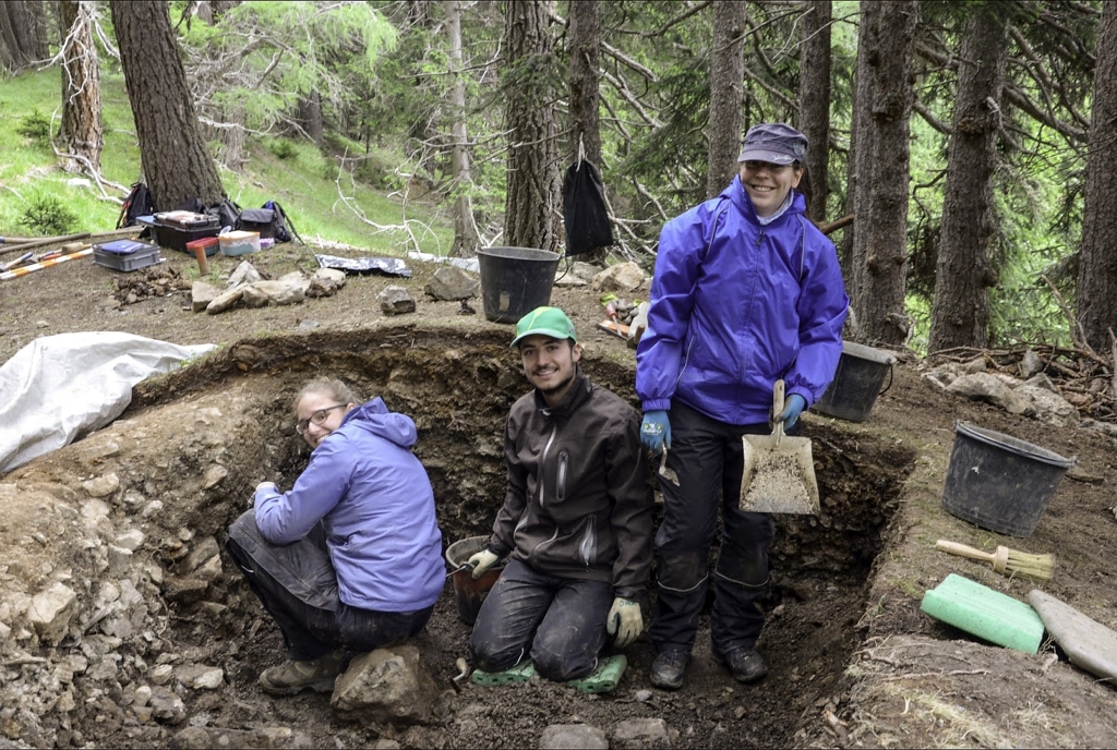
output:
[[943,507],[983,529],[1031,536],[1075,460],[965,422],[954,433]]

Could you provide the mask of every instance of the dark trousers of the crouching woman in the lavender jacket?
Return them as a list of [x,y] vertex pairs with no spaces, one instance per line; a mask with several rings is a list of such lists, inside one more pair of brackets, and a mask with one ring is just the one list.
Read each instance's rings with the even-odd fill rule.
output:
[[306,661],[336,648],[373,651],[403,643],[427,625],[433,605],[414,612],[375,612],[337,598],[337,575],[322,527],[289,545],[273,545],[256,528],[256,511],[233,521],[226,551],[283,632],[290,658]]

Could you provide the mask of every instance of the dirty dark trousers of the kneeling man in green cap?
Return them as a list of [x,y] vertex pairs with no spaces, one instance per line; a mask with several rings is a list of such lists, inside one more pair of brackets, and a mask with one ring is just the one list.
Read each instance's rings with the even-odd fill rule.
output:
[[584,677],[605,645],[612,585],[558,578],[509,560],[481,603],[469,637],[474,664],[502,672],[531,655],[548,680]]

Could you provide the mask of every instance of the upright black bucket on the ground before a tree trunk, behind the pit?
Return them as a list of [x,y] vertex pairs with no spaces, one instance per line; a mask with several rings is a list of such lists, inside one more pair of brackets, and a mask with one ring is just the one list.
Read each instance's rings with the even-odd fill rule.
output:
[[481,304],[494,323],[516,323],[551,304],[558,253],[535,248],[478,248]]

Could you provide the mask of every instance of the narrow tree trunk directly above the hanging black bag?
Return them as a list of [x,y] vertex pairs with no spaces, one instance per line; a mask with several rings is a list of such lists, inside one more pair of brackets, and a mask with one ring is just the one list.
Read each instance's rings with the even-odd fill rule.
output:
[[598,0],[570,3],[570,162],[579,154],[601,170],[598,116],[601,78],[601,19]]

